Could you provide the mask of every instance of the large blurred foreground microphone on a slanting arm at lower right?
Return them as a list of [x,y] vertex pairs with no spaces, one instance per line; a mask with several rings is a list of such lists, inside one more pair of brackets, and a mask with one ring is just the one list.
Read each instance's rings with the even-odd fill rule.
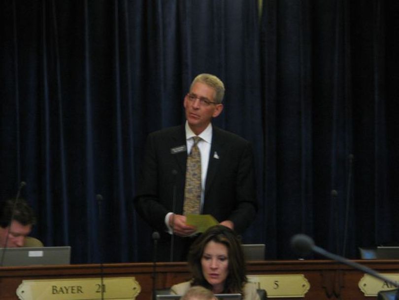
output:
[[310,238],[309,236],[305,235],[305,234],[297,234],[294,235],[291,238],[291,247],[292,249],[300,256],[306,256],[308,254],[310,254],[312,251],[315,253],[318,253],[324,257],[327,257],[333,261],[339,262],[339,263],[344,263],[347,264],[357,270],[360,270],[364,273],[370,274],[371,276],[378,278],[382,281],[385,281],[389,284],[391,284],[392,286],[398,288],[399,287],[399,283],[396,281],[393,281],[381,274],[379,274],[377,271],[370,269],[368,267],[366,267],[363,264],[360,263],[356,263],[350,260],[345,259],[344,257],[332,254],[326,250],[324,250],[323,248],[320,248],[318,246],[316,246],[314,244],[314,241],[312,238]]

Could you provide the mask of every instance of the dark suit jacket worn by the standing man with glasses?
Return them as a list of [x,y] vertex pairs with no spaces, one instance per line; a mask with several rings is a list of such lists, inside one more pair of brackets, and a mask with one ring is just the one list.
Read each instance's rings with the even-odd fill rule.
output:
[[[213,126],[202,214],[218,222],[230,220],[242,233],[257,211],[254,157],[250,143]],[[134,199],[138,214],[161,234],[162,261],[168,261],[165,216],[183,213],[186,174],[185,126],[151,133],[146,142],[138,193]],[[192,238],[174,238],[174,260],[185,261]]]

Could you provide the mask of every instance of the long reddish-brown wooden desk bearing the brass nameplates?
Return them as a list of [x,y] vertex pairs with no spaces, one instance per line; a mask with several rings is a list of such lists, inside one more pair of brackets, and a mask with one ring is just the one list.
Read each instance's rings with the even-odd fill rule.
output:
[[[398,273],[399,261],[365,260],[357,261],[380,273]],[[302,299],[366,299],[358,287],[364,273],[346,265],[328,260],[310,261],[260,261],[249,262],[247,272],[261,274],[304,274],[310,283],[310,290]],[[141,286],[137,300],[151,299],[152,263],[114,263],[103,265],[104,277],[135,277]],[[157,289],[189,279],[186,263],[157,263]],[[17,300],[16,289],[22,280],[99,278],[99,264],[71,264],[58,266],[0,267],[0,299]],[[281,299],[281,298],[280,298]],[[290,299],[290,298],[284,298]],[[292,298],[295,300],[298,298]]]

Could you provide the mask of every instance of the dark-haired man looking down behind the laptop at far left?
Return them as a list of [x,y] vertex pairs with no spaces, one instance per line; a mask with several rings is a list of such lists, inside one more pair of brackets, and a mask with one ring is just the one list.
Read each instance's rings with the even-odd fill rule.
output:
[[[12,220],[11,220],[12,219]],[[0,203],[0,248],[42,247],[38,239],[29,237],[36,218],[24,199],[8,199]]]

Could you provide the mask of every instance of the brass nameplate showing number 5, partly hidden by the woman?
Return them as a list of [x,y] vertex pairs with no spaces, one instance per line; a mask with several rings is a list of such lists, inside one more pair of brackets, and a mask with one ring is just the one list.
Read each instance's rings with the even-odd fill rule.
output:
[[303,274],[248,275],[248,281],[258,283],[265,289],[267,298],[301,298],[310,289],[309,281]]

